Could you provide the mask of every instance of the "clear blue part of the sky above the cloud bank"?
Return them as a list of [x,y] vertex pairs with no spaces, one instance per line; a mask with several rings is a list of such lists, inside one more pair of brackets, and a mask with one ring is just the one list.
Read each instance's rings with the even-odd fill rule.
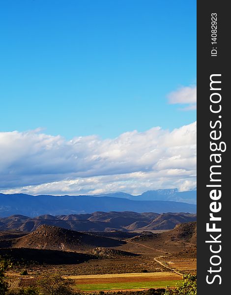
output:
[[196,119],[167,98],[196,84],[196,0],[5,0],[0,27],[0,131],[106,139]]

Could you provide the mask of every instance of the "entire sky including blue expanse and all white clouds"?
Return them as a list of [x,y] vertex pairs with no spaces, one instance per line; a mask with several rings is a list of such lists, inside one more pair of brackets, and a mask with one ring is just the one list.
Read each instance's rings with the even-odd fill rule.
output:
[[1,192],[195,189],[196,0],[4,0],[0,28]]

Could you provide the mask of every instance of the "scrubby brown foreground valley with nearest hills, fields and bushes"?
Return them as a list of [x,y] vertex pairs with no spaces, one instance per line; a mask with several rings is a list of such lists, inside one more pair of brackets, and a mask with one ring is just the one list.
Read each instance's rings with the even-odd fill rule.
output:
[[[132,238],[45,225],[16,234],[3,233],[0,240],[0,295],[196,295],[194,222]],[[191,275],[179,283],[182,276],[173,269]]]

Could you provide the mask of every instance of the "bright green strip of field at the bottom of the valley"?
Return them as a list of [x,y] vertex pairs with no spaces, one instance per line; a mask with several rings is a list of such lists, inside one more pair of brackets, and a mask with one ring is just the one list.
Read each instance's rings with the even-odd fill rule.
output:
[[129,282],[129,283],[100,283],[100,284],[80,284],[74,288],[82,291],[104,291],[104,290],[130,290],[174,287],[179,280],[167,280],[156,282]]

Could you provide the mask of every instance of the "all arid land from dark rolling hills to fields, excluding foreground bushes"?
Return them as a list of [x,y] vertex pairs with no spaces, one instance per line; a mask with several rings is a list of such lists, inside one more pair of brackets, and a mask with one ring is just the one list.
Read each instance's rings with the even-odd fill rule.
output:
[[[84,292],[142,290],[174,286],[182,274],[196,273],[196,221],[182,223],[195,214],[120,213],[88,214],[87,220],[103,229],[97,232],[66,229],[86,221],[86,214],[1,218],[0,256],[13,262],[7,273],[11,288],[58,273]],[[54,220],[63,227],[46,224]]]

